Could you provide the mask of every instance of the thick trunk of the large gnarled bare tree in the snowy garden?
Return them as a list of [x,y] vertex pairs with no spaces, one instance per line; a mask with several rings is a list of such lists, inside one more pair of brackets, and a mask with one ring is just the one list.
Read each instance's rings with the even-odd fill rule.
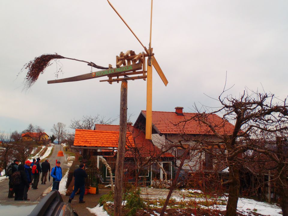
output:
[[229,164],[229,196],[226,207],[226,216],[236,216],[237,203],[240,190],[239,168],[230,162]]

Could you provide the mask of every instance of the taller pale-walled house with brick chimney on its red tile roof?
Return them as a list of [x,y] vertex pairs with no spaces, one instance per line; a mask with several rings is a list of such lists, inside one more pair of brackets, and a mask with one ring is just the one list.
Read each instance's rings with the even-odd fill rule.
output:
[[[160,149],[177,146],[171,148],[169,151],[176,159],[176,167],[179,166],[185,149],[191,145],[201,145],[201,142],[196,141],[197,139],[207,142],[220,142],[213,131],[207,125],[200,122],[196,116],[197,113],[183,113],[183,107],[175,107],[175,112],[152,111],[152,142]],[[217,133],[221,135],[232,134],[234,126],[227,120],[216,114],[211,114],[207,118],[215,127]],[[145,131],[145,110],[141,111],[134,127]],[[203,152],[203,154],[190,152],[190,157],[184,161],[182,170],[188,173],[209,169],[220,171],[225,167],[224,163],[217,163],[218,167],[215,167],[216,163],[213,163],[212,160],[211,155],[207,152]]]

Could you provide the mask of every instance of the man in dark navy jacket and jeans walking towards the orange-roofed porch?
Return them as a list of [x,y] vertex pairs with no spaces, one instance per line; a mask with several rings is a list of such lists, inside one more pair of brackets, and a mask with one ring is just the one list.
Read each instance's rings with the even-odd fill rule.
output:
[[71,203],[72,199],[75,196],[75,193],[79,190],[80,196],[79,196],[79,203],[84,203],[83,200],[84,193],[85,193],[85,178],[88,177],[87,173],[84,170],[84,164],[80,164],[79,168],[74,170],[74,190],[71,193],[71,196],[69,197],[68,202]]

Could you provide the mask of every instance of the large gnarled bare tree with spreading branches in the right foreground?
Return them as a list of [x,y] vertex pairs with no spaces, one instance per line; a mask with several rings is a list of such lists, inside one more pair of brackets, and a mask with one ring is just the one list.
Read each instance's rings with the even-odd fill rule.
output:
[[[225,158],[229,167],[229,179],[223,182],[223,184],[229,184],[226,215],[234,216],[236,215],[240,190],[239,169],[241,156],[239,155],[248,149],[256,149],[255,146],[245,142],[245,140],[247,140],[247,137],[263,132],[280,133],[286,131],[288,106],[286,105],[286,100],[279,101],[272,94],[253,91],[248,93],[247,89],[239,98],[233,98],[232,96],[222,98],[222,94],[218,98],[221,108],[213,113],[222,113],[223,122],[220,125],[223,125],[227,120],[234,123],[232,134],[219,134],[217,132],[219,125],[215,125],[209,120],[211,113],[199,112],[193,120],[198,120],[207,125],[218,138],[217,141],[202,140],[202,147],[199,150],[207,152],[208,149],[216,146],[220,149],[219,153]],[[211,152],[210,154],[213,155]],[[214,156],[217,157],[219,155],[214,154]]]

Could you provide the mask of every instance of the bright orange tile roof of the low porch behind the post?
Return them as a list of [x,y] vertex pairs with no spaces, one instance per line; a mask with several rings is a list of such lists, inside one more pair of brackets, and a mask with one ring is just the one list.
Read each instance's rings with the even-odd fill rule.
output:
[[[94,130],[75,130],[74,146],[85,147],[118,147],[119,131],[94,131]],[[127,133],[127,146],[134,146],[134,140],[130,133]]]

